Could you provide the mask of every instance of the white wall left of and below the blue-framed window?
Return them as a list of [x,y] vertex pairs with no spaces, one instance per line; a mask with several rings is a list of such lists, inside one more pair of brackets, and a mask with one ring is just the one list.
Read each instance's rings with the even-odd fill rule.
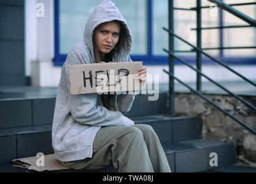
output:
[[[44,17],[36,17],[36,3],[44,4]],[[61,67],[55,67],[54,58],[54,1],[25,0],[25,74],[31,76],[32,86],[57,87]],[[256,65],[230,66],[251,80],[256,80]],[[159,74],[160,83],[168,83],[168,66],[147,66],[147,74]],[[202,66],[202,71],[217,81],[241,81],[224,67]],[[196,79],[195,72],[182,65],[175,66],[175,75],[185,82]],[[207,81],[203,78],[203,81]]]

